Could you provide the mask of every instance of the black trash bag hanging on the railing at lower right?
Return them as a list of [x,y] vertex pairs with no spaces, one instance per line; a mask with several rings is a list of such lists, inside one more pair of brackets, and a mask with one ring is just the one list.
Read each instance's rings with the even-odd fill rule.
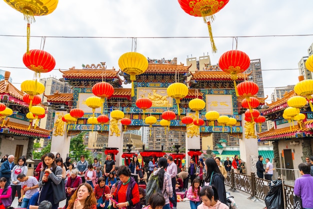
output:
[[282,189],[281,180],[275,180],[269,186],[269,192],[264,199],[267,209],[284,209]]

